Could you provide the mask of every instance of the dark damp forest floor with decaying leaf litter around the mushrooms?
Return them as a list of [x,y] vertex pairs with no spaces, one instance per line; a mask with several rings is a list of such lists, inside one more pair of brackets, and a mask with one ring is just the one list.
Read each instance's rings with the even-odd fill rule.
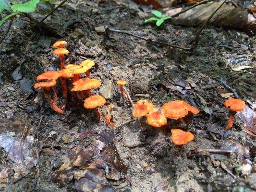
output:
[[[31,14],[38,21],[50,11],[39,6],[40,12]],[[45,20],[55,36],[30,29],[24,20],[12,21],[0,47],[2,191],[256,190],[255,38],[207,26],[190,53],[122,33],[104,34],[107,25],[173,45],[191,44],[197,27],[144,24],[151,10],[134,1],[70,1]],[[33,89],[38,74],[59,68],[51,48],[58,39],[69,42],[66,63],[96,62],[91,76],[102,82],[99,92],[107,104],[115,105],[114,127],[95,121],[75,101],[58,115]],[[170,128],[132,118],[130,102],[118,91],[120,79],[127,81],[134,102],[147,99],[161,106],[182,99],[199,108],[184,122],[169,121],[172,128],[193,132],[195,141],[175,146]],[[223,102],[235,95],[247,106],[224,132],[229,111]]]

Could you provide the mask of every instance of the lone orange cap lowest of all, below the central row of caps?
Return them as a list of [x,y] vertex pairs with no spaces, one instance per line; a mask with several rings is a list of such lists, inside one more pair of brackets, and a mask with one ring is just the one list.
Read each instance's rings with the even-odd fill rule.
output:
[[171,141],[173,144],[182,145],[187,144],[195,139],[195,136],[191,132],[184,132],[181,129],[171,130]]

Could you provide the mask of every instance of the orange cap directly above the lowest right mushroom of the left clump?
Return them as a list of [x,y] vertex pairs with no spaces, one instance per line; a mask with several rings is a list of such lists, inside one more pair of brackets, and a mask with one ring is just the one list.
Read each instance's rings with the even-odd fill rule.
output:
[[97,79],[82,78],[73,83],[71,91],[85,91],[88,89],[96,89],[101,83]]

